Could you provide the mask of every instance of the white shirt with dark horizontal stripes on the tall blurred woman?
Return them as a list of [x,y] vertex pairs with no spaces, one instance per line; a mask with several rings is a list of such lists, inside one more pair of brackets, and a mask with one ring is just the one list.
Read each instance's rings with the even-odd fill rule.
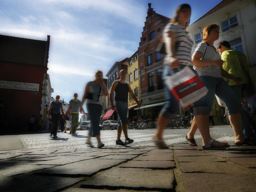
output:
[[168,23],[164,28],[164,33],[169,31],[173,31],[175,34],[175,58],[180,62],[187,63],[187,65],[192,65],[191,48],[193,41],[189,38],[186,27],[180,24]]

